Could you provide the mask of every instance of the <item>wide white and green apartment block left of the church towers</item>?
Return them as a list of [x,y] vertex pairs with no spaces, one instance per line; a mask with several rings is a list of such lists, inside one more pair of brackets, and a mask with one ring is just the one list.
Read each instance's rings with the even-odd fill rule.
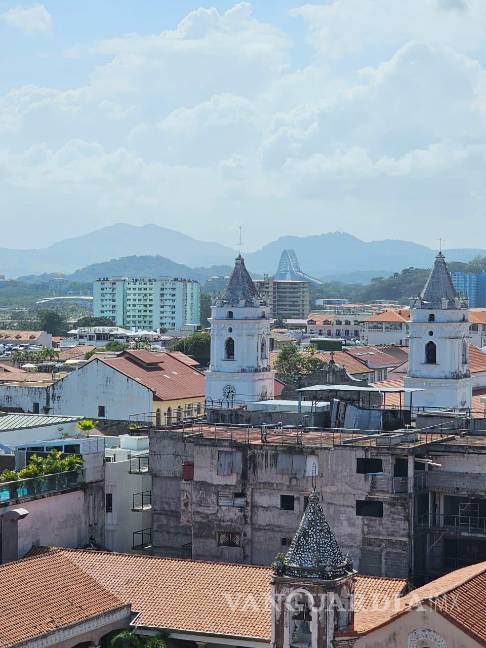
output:
[[113,277],[93,287],[95,317],[136,330],[182,330],[201,323],[201,286],[190,279]]

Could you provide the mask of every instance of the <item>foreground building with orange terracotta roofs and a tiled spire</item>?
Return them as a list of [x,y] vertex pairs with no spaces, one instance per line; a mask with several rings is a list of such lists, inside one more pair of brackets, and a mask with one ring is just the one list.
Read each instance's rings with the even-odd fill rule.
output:
[[181,648],[486,645],[486,563],[408,592],[356,573],[338,538],[311,493],[272,569],[45,548],[0,567],[0,635],[31,648],[106,645],[124,629]]

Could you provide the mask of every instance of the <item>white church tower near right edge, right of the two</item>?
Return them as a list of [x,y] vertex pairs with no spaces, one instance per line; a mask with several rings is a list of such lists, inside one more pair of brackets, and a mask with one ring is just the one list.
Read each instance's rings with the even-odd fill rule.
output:
[[424,390],[413,394],[414,407],[471,407],[467,303],[454,288],[442,252],[412,309],[405,387]]

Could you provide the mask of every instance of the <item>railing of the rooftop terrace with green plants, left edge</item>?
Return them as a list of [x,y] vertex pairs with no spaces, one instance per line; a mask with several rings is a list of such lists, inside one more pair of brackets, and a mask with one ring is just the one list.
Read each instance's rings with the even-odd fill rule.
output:
[[83,470],[3,482],[0,484],[0,504],[8,504],[19,499],[35,498],[39,495],[79,488],[83,483]]

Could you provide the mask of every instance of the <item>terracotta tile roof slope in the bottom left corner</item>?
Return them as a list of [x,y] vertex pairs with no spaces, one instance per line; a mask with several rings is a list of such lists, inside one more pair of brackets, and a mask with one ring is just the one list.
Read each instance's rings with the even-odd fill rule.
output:
[[0,591],[2,647],[23,644],[125,607],[114,593],[62,552],[0,566]]

